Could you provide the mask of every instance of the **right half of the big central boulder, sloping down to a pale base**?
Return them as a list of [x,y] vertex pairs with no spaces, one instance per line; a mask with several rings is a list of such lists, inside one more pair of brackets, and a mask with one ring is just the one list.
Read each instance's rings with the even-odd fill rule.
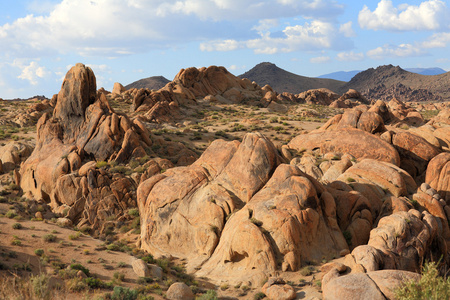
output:
[[347,244],[337,225],[333,197],[312,177],[282,164],[231,216],[197,275],[260,284],[280,266],[297,271],[305,263],[338,256],[342,249]]

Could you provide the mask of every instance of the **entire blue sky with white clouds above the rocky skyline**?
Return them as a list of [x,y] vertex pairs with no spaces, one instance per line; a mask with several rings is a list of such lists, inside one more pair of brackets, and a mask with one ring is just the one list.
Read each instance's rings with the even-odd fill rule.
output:
[[0,98],[51,97],[77,62],[98,88],[260,62],[319,76],[393,64],[450,70],[442,0],[2,0]]

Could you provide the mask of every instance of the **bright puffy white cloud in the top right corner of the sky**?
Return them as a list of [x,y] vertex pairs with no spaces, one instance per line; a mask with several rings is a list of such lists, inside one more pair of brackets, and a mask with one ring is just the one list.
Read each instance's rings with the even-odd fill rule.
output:
[[381,0],[371,11],[366,5],[359,12],[361,28],[372,30],[441,30],[448,29],[449,8],[441,0],[429,0],[419,6],[403,4],[394,7],[392,1]]

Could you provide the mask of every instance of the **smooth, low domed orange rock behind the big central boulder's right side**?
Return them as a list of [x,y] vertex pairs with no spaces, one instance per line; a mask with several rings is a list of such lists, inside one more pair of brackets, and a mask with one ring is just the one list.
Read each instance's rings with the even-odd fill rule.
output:
[[358,159],[372,158],[400,165],[400,157],[392,145],[353,128],[299,135],[289,142],[288,147],[297,151],[320,149],[321,153],[349,153]]

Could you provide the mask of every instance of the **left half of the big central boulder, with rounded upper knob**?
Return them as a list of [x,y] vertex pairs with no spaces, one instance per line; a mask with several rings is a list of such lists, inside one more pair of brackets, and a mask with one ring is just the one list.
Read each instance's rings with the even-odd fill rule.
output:
[[188,258],[197,266],[214,251],[227,217],[269,180],[281,158],[263,135],[214,141],[189,167],[139,185],[142,248]]

